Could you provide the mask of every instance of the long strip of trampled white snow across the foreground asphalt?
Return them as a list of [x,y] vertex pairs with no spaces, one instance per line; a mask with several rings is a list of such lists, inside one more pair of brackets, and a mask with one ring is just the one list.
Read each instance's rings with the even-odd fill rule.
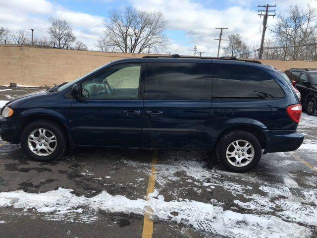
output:
[[[164,201],[158,191],[150,194],[149,200],[131,200],[121,195],[112,196],[103,191],[87,198],[72,194],[73,190],[58,188],[45,193],[27,193],[23,190],[0,193],[0,206],[14,208],[35,208],[39,212],[65,214],[83,212],[80,207],[95,211],[119,212],[143,215],[145,209],[152,208],[155,219],[173,221],[222,236],[246,237],[308,237],[308,228],[285,222],[271,215],[241,214],[211,204],[189,201]],[[315,218],[316,219],[316,218]]]

